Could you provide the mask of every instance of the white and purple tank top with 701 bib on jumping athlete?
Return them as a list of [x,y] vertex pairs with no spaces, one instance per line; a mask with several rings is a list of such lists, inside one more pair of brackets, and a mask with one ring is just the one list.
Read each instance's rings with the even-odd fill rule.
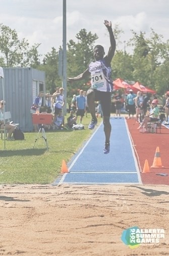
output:
[[98,91],[111,92],[111,67],[110,65],[106,64],[105,58],[89,64],[89,72],[91,73],[91,87]]

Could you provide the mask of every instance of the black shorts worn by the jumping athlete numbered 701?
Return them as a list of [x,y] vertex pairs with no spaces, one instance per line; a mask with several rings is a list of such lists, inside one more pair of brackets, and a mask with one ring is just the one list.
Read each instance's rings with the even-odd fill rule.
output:
[[110,117],[111,113],[111,92],[98,91],[90,88],[95,93],[95,101],[100,101],[101,110],[104,117]]

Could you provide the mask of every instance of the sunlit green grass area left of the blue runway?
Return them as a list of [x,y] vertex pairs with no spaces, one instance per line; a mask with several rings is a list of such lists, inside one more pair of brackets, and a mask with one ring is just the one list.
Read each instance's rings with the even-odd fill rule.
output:
[[[78,120],[79,121],[79,120]],[[98,124],[102,120],[98,119]],[[25,133],[25,140],[0,141],[0,184],[49,184],[61,173],[62,161],[70,161],[93,131],[87,127],[90,117],[84,117],[84,130]],[[35,144],[35,147],[33,148]]]

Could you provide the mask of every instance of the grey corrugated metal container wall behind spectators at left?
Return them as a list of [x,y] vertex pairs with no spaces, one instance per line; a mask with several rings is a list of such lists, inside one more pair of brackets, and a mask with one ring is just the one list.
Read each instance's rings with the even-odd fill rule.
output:
[[[11,111],[11,120],[19,123],[24,132],[32,131],[33,128],[30,108],[35,92],[37,94],[39,92],[39,84],[43,84],[45,91],[45,72],[43,71],[32,68],[4,68],[5,111]],[[0,98],[3,99],[2,86]]]

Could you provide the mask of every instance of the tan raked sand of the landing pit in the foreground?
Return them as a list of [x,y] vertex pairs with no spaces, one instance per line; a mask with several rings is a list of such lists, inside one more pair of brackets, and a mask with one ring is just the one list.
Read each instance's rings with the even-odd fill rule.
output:
[[[169,187],[1,185],[0,255],[169,255]],[[129,248],[133,226],[164,229],[157,244]]]

